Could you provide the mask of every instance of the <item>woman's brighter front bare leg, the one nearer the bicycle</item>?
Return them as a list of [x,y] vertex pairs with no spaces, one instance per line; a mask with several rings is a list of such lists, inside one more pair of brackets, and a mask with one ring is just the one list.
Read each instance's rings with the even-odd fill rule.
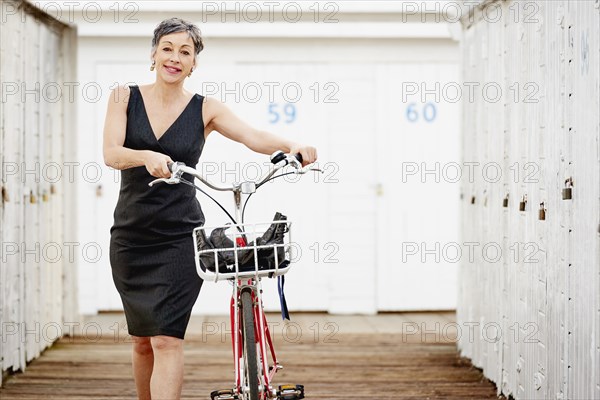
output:
[[154,369],[150,388],[156,400],[176,400],[183,384],[183,340],[171,336],[153,336]]

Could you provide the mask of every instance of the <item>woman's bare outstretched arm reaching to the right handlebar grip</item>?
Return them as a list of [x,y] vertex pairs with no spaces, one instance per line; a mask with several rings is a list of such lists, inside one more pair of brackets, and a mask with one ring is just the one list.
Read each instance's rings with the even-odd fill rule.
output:
[[244,144],[249,149],[262,154],[272,154],[277,150],[302,155],[302,164],[317,160],[317,149],[284,139],[272,133],[255,129],[238,118],[225,104],[213,98],[206,98],[203,117],[208,123],[205,136],[217,131],[223,136]]

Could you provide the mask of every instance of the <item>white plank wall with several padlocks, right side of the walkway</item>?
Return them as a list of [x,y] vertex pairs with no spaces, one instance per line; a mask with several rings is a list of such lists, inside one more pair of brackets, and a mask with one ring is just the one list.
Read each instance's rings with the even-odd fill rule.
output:
[[463,103],[463,158],[502,177],[463,182],[461,232],[502,256],[460,266],[459,347],[515,399],[597,399],[600,2],[481,3],[462,19],[463,81],[502,97]]

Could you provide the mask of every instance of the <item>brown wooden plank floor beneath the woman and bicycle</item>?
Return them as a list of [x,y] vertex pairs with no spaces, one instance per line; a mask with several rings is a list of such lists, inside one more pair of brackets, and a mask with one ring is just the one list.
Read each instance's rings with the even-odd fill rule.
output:
[[[114,336],[122,317],[94,320],[104,336],[63,338],[25,373],[9,377],[0,399],[133,399],[130,346]],[[438,329],[453,314],[379,316],[292,315],[283,324],[269,315],[284,369],[276,383],[302,383],[307,399],[492,399],[495,386],[468,360],[454,338],[413,333]],[[90,322],[87,322],[90,324]],[[210,391],[231,387],[230,334],[223,317],[195,317],[185,344],[183,398],[208,399]]]

